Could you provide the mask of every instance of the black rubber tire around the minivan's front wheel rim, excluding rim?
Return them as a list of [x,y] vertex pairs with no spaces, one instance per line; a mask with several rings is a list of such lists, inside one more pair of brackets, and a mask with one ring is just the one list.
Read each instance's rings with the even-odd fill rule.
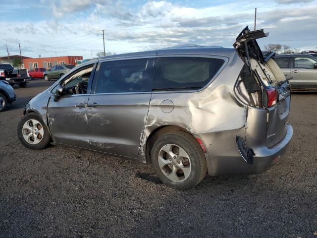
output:
[[[23,137],[23,125],[25,122],[27,122],[30,119],[36,119],[43,126],[44,135],[42,137],[42,140],[38,144],[30,144]],[[46,126],[46,124],[43,122],[43,120],[36,113],[28,113],[28,114],[24,115],[24,117],[21,118],[19,121],[17,132],[18,132],[19,140],[22,143],[22,145],[24,145],[26,148],[29,148],[31,150],[44,149],[45,147],[48,146],[48,144],[51,141],[51,135],[50,135],[50,132],[48,130],[48,127]]]

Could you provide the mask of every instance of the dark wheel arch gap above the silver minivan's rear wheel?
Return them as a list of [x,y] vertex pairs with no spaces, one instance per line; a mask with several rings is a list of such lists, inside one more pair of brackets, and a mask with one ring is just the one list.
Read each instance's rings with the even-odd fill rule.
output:
[[177,126],[177,125],[163,125],[160,126],[156,129],[154,129],[151,134],[148,136],[147,138],[147,142],[146,142],[146,163],[147,164],[151,164],[151,149],[154,145],[154,143],[157,141],[157,139],[168,133],[171,131],[185,131],[191,135],[193,135],[192,133],[190,133],[188,130],[186,130],[185,128],[181,127],[181,126]]

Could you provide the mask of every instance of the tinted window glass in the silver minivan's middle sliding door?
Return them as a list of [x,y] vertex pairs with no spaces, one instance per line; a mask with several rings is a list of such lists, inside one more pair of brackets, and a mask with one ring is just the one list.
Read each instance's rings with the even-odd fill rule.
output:
[[136,59],[100,63],[95,93],[152,91],[154,62],[154,59]]

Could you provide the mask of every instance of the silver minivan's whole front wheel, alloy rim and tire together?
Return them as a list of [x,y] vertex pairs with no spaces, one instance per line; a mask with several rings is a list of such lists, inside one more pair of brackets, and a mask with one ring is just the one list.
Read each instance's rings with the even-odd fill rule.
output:
[[32,150],[44,149],[51,140],[49,130],[36,113],[28,113],[20,119],[18,137],[22,145]]

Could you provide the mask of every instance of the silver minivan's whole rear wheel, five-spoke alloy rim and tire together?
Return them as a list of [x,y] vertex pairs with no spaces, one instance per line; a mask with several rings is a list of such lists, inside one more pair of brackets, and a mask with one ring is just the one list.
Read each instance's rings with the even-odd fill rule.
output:
[[202,148],[194,136],[184,131],[159,137],[151,151],[151,160],[159,179],[178,190],[196,186],[207,173]]

